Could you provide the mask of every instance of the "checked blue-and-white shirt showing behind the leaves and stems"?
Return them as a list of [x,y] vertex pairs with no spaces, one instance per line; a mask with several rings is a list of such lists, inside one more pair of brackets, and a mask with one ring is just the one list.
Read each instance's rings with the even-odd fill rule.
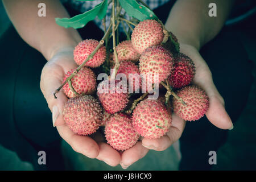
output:
[[[145,3],[147,3],[147,5],[150,7],[150,9],[154,10],[157,7],[163,5],[164,3],[168,2],[169,0],[143,0]],[[62,2],[68,3],[68,5],[72,6],[73,9],[80,11],[81,13],[84,13],[85,11],[88,11],[90,9],[92,9],[93,7],[95,7],[96,5],[98,5],[99,3],[102,2],[102,0],[96,0],[96,1],[76,1],[76,0],[63,0]],[[110,16],[111,16],[111,12],[112,12],[112,4],[110,3],[107,13],[106,13],[106,25],[108,26],[110,23]],[[122,9],[121,13],[125,13],[125,10]],[[129,19],[129,16],[126,14],[126,19]],[[96,17],[96,19],[94,20],[94,22],[103,30],[103,25],[102,25],[102,20],[98,19],[98,17]],[[121,28],[119,28],[120,31],[123,31],[122,26],[119,26]],[[126,27],[127,28],[127,27]]]

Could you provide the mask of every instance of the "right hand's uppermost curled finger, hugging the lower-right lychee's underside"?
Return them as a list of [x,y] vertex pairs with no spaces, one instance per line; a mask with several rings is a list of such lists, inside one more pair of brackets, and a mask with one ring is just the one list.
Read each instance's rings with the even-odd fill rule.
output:
[[185,121],[177,117],[176,114],[172,114],[172,126],[168,133],[157,139],[144,138],[142,145],[151,150],[164,151],[181,137],[184,128]]

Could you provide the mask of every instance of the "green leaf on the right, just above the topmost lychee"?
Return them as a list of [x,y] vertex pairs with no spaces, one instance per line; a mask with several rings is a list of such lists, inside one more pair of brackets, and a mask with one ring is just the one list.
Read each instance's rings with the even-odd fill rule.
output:
[[146,19],[158,19],[153,11],[143,5],[139,5],[135,0],[119,0],[119,3],[129,16],[133,16],[140,21]]

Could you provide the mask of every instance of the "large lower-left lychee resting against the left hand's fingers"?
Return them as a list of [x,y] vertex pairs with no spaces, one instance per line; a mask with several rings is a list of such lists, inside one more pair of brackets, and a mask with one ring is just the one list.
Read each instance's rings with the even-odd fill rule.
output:
[[70,98],[63,108],[63,119],[78,135],[90,135],[100,127],[102,109],[92,96]]

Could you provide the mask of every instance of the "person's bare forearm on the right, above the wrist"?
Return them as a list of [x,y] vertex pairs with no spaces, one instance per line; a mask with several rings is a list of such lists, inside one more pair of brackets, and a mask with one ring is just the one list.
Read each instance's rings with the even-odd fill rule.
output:
[[[209,3],[216,3],[217,17],[208,15]],[[233,0],[178,0],[172,8],[166,28],[179,43],[200,49],[218,34],[232,9]]]

